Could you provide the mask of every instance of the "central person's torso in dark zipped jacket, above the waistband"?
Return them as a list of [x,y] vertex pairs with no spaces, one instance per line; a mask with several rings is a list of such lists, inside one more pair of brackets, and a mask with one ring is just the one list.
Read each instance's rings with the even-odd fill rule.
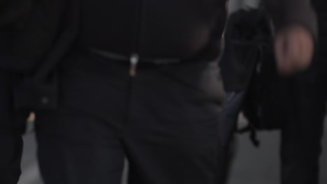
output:
[[80,13],[81,47],[187,58],[220,37],[225,0],[81,0]]

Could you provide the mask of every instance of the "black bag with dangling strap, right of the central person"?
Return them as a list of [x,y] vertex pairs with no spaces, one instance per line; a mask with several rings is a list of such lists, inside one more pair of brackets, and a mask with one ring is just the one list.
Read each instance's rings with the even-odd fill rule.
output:
[[226,101],[221,123],[222,144],[228,144],[243,112],[256,146],[256,130],[276,130],[286,121],[286,81],[277,75],[273,28],[263,8],[233,13],[224,34],[224,55],[219,61]]

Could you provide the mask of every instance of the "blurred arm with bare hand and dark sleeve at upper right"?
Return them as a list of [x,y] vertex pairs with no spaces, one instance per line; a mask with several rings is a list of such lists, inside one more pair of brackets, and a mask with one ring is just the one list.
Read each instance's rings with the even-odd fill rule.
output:
[[275,56],[281,75],[306,70],[318,40],[317,17],[311,0],[265,0],[275,25]]

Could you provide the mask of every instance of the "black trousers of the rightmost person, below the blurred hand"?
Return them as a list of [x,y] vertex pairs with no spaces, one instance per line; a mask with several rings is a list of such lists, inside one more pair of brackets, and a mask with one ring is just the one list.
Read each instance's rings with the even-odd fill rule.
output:
[[318,56],[312,67],[293,77],[289,99],[291,116],[282,127],[282,184],[319,183],[319,157],[327,100],[326,56]]

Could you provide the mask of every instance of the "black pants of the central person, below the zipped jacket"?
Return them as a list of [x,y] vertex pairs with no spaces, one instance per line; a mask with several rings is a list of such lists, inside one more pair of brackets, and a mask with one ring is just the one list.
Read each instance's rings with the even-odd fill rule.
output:
[[[142,61],[140,61],[142,62]],[[73,54],[60,105],[36,112],[45,184],[217,184],[224,93],[217,61],[154,66]]]

